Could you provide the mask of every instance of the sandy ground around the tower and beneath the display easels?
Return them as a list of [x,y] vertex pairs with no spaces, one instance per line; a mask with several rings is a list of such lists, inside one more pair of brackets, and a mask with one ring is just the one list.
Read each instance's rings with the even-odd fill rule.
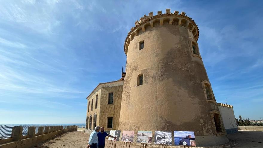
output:
[[[263,148],[263,131],[239,131],[237,134],[228,135],[230,142],[220,146],[197,147],[197,148]],[[89,135],[83,131],[67,132],[58,137],[49,139],[38,144],[37,148],[85,148],[88,144]],[[117,148],[123,148],[123,142],[116,141]],[[110,141],[105,140],[105,148],[108,148]],[[167,146],[168,148],[179,148]],[[113,147],[112,147],[113,148]],[[140,148],[140,144],[131,143],[131,148]],[[159,148],[159,145],[149,144],[147,148]]]

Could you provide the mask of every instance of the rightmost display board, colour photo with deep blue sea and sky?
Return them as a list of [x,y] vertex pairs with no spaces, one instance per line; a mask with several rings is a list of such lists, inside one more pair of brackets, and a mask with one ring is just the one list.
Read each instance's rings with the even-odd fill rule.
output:
[[191,131],[174,131],[175,145],[196,147],[195,133]]

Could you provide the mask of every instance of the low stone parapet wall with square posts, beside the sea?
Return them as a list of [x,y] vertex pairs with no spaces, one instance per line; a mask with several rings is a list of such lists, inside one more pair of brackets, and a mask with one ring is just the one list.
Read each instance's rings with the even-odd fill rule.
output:
[[63,129],[63,126],[46,126],[39,127],[38,133],[35,133],[36,127],[30,126],[28,128],[27,135],[22,136],[22,126],[14,126],[12,129],[11,138],[1,139],[0,148],[29,148],[34,147],[38,143],[46,141],[55,135],[60,135],[65,132],[77,131],[77,126],[67,126]]

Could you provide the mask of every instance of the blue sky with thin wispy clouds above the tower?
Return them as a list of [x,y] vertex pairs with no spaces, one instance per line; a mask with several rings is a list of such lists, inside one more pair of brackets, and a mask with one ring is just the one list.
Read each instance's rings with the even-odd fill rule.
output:
[[0,1],[0,123],[85,123],[86,97],[118,80],[134,22],[184,11],[218,103],[263,119],[262,1]]

